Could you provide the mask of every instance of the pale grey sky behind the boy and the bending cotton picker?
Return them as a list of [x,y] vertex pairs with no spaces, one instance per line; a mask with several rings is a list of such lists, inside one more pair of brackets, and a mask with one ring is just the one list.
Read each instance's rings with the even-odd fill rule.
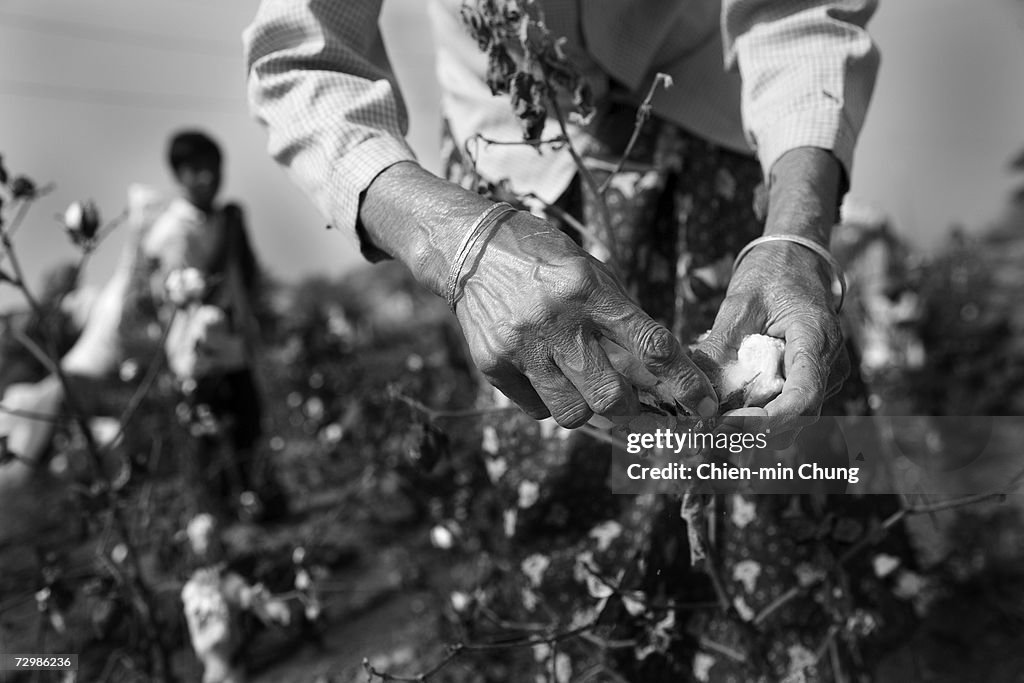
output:
[[[359,262],[324,229],[264,152],[249,118],[242,0],[0,0],[0,155],[58,189],[19,240],[30,273],[73,255],[51,217],[94,198],[109,215],[130,182],[170,190],[168,134],[201,127],[227,155],[224,197],[247,208],[256,248],[278,275],[338,273]],[[414,112],[411,139],[436,168],[436,82],[423,0],[387,0],[382,19]],[[872,26],[883,72],[862,136],[854,194],[934,245],[951,222],[983,226],[1001,210],[1007,162],[1024,147],[1024,7],[1020,0],[882,0]],[[88,281],[113,266],[104,245]],[[9,302],[0,292],[0,302]]]

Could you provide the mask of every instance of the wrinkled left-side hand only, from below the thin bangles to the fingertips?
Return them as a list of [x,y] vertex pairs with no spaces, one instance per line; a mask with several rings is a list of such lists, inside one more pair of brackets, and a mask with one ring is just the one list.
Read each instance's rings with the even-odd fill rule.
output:
[[[481,245],[464,269],[457,314],[476,365],[528,415],[569,428],[594,414],[633,415],[636,388],[651,382],[690,413],[717,411],[711,382],[672,333],[563,233],[518,212]],[[602,348],[609,341],[639,372],[612,365]]]

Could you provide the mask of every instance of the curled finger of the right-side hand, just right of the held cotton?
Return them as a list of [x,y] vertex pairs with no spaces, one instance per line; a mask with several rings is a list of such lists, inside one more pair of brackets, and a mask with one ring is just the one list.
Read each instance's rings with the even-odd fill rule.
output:
[[839,348],[838,324],[834,321],[797,322],[790,325],[784,335],[785,383],[782,393],[765,405],[775,433],[792,428],[798,417],[816,418],[820,414],[828,369]]

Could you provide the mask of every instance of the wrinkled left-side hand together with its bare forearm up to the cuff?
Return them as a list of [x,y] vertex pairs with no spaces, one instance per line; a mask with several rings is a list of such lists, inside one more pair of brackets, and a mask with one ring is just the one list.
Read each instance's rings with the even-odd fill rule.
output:
[[[465,230],[489,206],[402,163],[373,182],[360,218],[379,248],[443,293]],[[634,414],[636,387],[650,389],[651,376],[655,393],[682,411],[717,411],[711,382],[673,335],[630,300],[604,265],[547,222],[526,212],[503,216],[463,273],[456,310],[473,359],[531,417],[550,415],[572,428],[594,414]],[[647,372],[617,372],[601,346],[607,341]]]

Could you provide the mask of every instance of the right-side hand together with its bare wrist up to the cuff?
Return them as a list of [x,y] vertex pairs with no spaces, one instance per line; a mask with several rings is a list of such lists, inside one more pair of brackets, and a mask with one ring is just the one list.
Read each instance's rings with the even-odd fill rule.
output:
[[[797,234],[827,247],[836,221],[840,168],[809,147],[783,156],[772,169],[766,234]],[[816,418],[849,372],[831,291],[831,271],[813,251],[792,242],[756,246],[729,284],[711,334],[698,350],[724,365],[743,337],[785,340],[782,393],[765,405],[775,434]]]

